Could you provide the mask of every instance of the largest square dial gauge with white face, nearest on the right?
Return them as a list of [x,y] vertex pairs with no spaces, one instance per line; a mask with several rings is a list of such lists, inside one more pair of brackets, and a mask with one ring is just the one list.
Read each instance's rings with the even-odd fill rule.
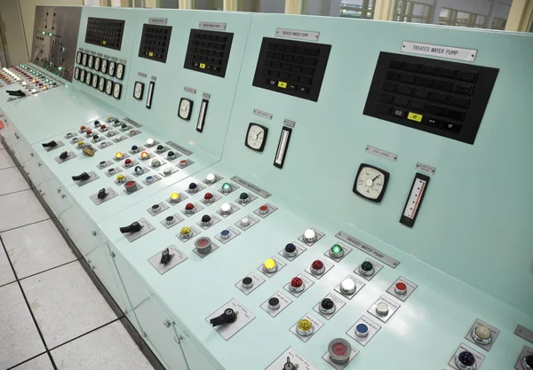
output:
[[354,182],[354,193],[367,201],[379,203],[385,195],[389,173],[370,164],[362,163]]

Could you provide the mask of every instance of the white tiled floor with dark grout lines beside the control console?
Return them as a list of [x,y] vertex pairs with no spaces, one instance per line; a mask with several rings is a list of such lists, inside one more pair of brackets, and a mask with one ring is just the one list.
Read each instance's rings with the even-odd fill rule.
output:
[[0,146],[0,370],[153,370]]

